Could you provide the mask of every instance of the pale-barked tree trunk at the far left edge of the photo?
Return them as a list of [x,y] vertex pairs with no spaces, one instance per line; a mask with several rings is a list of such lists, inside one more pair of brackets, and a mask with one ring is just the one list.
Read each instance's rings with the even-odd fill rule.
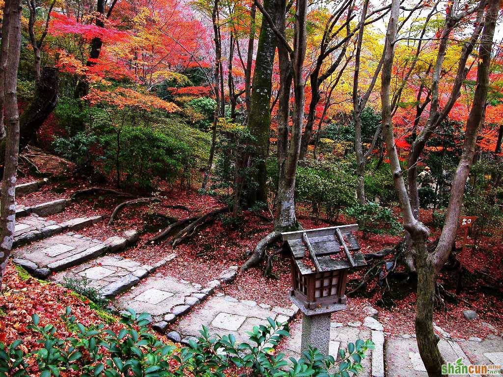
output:
[[[21,0],[9,4],[9,55],[5,74],[7,143],[4,177],[0,198],[0,280],[3,279],[11,254],[16,226],[16,172],[19,159],[19,113],[17,78],[21,51]],[[1,289],[0,285],[0,289]]]

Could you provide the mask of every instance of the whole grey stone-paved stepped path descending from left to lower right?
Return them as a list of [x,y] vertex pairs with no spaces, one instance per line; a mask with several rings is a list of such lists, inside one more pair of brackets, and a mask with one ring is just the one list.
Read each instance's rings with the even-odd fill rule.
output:
[[[20,193],[33,192],[44,183],[21,185]],[[86,278],[90,286],[112,299],[117,310],[132,308],[137,313],[149,313],[153,329],[160,333],[171,329],[167,336],[182,343],[199,336],[203,325],[212,334],[231,333],[238,342],[248,341],[246,332],[256,325],[267,325],[268,317],[289,322],[298,312],[294,305],[285,309],[251,300],[236,300],[222,293],[214,294],[222,282],[234,279],[237,266],[229,267],[218,279],[204,286],[197,281],[154,274],[176,254],[168,254],[154,265],[140,264],[113,254],[136,243],[138,233],[135,230],[100,241],[74,232],[96,224],[101,216],[71,219],[60,224],[43,217],[63,211],[68,203],[62,199],[18,208],[13,261],[37,277],[48,277],[56,282],[63,282],[64,278]],[[369,317],[363,323],[354,322],[348,326],[331,323],[329,353],[337,358],[338,350],[346,348],[349,342],[359,338],[372,339],[376,348],[362,361],[364,371],[360,375],[426,377],[415,335],[390,336],[377,321],[377,311],[370,309],[367,312]],[[444,330],[437,326],[436,329],[442,335],[439,347],[447,361],[455,362],[461,357],[466,362],[503,364],[503,339],[500,337],[451,339]],[[299,358],[299,323],[292,327],[291,334],[292,337],[284,342],[283,352],[287,357]]]

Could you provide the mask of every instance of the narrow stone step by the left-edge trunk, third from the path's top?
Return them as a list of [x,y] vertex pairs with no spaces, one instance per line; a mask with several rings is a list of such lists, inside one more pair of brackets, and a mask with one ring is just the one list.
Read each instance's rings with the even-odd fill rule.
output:
[[103,216],[80,217],[57,223],[37,214],[16,219],[13,247],[20,247],[65,231],[78,231],[96,224]]

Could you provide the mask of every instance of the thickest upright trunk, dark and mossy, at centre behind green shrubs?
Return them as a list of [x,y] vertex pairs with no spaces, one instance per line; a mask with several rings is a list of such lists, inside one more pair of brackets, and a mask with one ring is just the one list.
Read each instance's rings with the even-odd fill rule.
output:
[[[265,0],[264,9],[271,16],[276,18],[274,0]],[[251,88],[251,107],[248,116],[248,129],[255,141],[255,153],[251,160],[251,179],[255,182],[248,184],[247,203],[253,205],[256,202],[267,203],[267,169],[266,159],[271,129],[271,85],[274,65],[274,54],[276,51],[276,36],[269,25],[268,20],[262,19],[262,28],[257,47],[257,59],[255,60],[255,71],[253,85]]]

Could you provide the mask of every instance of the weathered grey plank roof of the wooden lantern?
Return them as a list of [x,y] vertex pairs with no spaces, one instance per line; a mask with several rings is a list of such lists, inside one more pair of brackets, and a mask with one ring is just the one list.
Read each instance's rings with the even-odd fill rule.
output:
[[358,224],[281,233],[302,275],[366,264],[353,235]]

